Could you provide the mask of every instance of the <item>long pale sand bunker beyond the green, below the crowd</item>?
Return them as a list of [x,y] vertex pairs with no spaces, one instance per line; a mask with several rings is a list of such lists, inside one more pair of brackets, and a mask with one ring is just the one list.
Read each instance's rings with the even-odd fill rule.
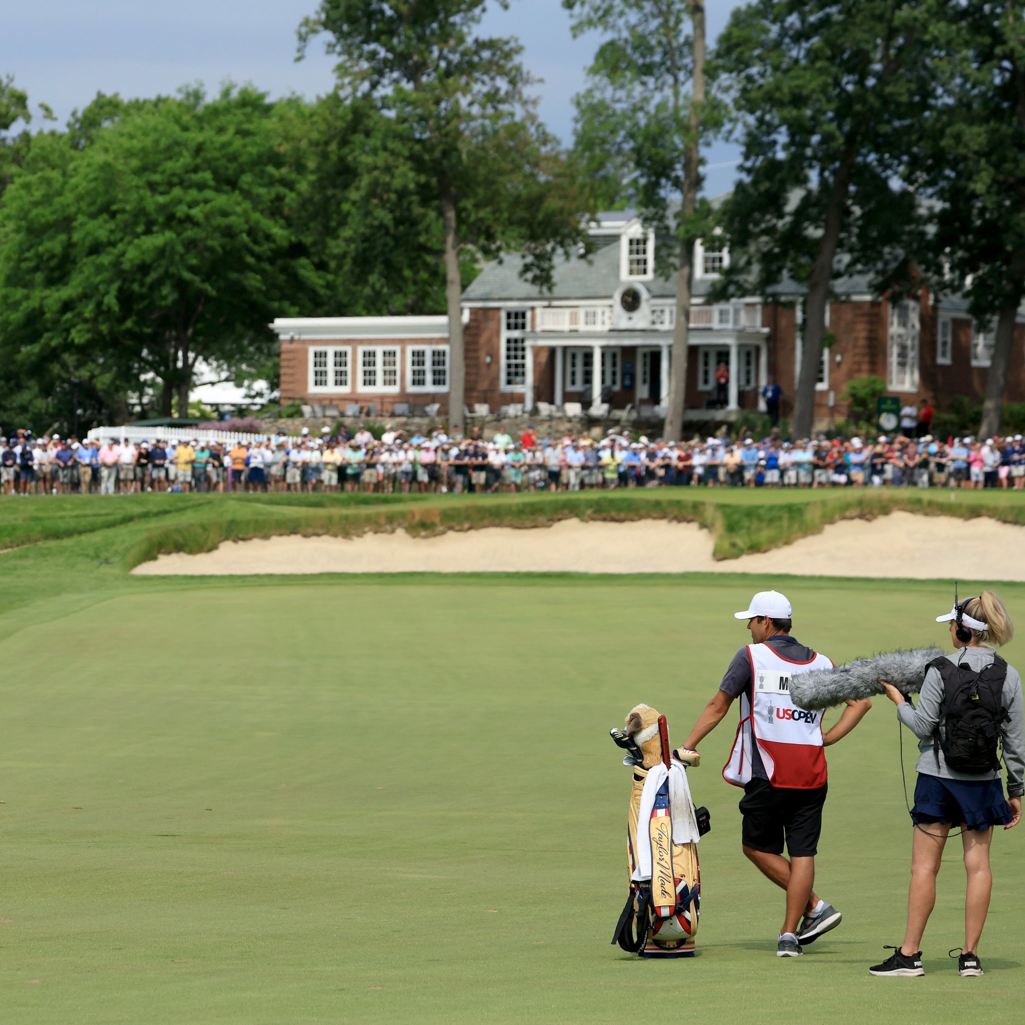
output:
[[283,536],[227,541],[200,556],[161,556],[132,572],[156,576],[702,572],[928,580],[949,576],[956,562],[966,567],[994,567],[990,571],[994,579],[1025,580],[1023,540],[1023,528],[986,518],[892,512],[870,521],[845,520],[785,547],[715,562],[710,535],[696,524],[564,520],[537,529],[488,527],[427,538],[398,531],[354,539]]

